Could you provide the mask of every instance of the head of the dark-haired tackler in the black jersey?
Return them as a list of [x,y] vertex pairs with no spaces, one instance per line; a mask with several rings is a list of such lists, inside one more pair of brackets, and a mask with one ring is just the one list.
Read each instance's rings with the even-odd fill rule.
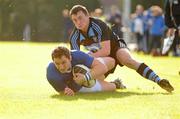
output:
[[70,10],[71,19],[77,29],[87,30],[89,25],[89,12],[82,5],[75,5]]

